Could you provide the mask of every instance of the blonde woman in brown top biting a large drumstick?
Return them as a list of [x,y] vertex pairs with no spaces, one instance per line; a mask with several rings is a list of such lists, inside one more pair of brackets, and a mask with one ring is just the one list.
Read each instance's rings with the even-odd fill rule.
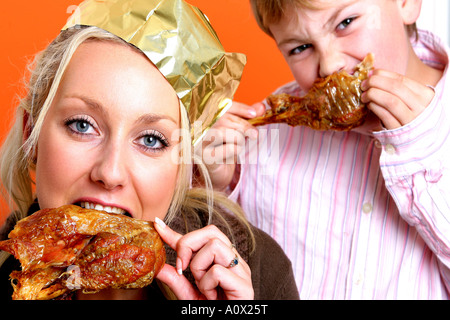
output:
[[[280,247],[250,226],[234,203],[190,187],[192,119],[162,72],[140,48],[104,29],[62,31],[37,57],[2,148],[2,184],[16,212],[9,222],[65,204],[155,221],[168,252],[157,282],[176,298],[298,298]],[[4,226],[5,235],[13,224]],[[10,298],[8,276],[19,265],[3,257],[0,295]],[[163,293],[152,284],[76,292],[74,298],[155,299]]]

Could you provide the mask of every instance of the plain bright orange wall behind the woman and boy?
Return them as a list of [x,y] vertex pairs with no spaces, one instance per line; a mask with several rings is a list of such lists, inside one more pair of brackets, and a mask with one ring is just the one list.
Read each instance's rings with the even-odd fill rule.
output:
[[[12,124],[26,65],[33,55],[54,39],[70,16],[70,7],[81,0],[2,1],[0,30],[0,141]],[[251,104],[264,99],[285,82],[291,81],[288,67],[275,43],[257,26],[248,0],[188,0],[210,19],[223,46],[242,52],[248,63],[236,93],[237,101]],[[7,214],[0,203],[0,223]]]

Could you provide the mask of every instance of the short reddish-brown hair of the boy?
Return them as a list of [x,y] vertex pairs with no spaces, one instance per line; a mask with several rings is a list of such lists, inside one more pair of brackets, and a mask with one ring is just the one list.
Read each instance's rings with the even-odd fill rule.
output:
[[[318,9],[318,6],[311,0],[250,0],[250,4],[259,27],[273,38],[269,25],[278,23],[283,18],[284,13],[292,8]],[[406,26],[409,37],[415,37],[418,33],[416,24]]]

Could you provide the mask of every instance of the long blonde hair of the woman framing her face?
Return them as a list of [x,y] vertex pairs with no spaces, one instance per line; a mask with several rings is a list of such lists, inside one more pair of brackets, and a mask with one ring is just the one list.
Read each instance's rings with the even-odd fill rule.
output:
[[[36,56],[34,65],[30,68],[31,75],[26,88],[27,95],[17,107],[16,121],[0,154],[3,191],[6,193],[5,196],[9,201],[11,211],[16,212],[17,220],[27,215],[28,209],[34,201],[34,182],[30,170],[35,169],[35,149],[44,118],[76,49],[83,42],[93,40],[113,41],[135,48],[117,36],[97,27],[74,27],[61,32],[43,52]],[[135,50],[141,52],[137,48]],[[253,247],[253,234],[242,209],[224,195],[213,191],[206,167],[193,152],[188,114],[181,102],[180,114],[181,159],[176,189],[165,218],[166,223],[170,223],[179,214],[184,217],[194,215],[199,220],[202,220],[201,215],[208,214],[208,222],[211,221],[212,215],[216,215],[227,226],[222,213],[228,211],[246,226]],[[205,188],[190,187],[194,163],[199,168]]]

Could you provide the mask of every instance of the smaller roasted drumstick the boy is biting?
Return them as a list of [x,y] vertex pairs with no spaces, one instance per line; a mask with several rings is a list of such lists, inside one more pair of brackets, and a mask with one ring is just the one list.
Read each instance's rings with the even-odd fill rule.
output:
[[367,108],[361,104],[361,82],[373,68],[373,55],[368,54],[349,75],[346,71],[318,78],[303,97],[286,93],[271,95],[271,109],[259,118],[250,119],[254,126],[287,123],[309,126],[315,130],[347,131],[364,123]]

